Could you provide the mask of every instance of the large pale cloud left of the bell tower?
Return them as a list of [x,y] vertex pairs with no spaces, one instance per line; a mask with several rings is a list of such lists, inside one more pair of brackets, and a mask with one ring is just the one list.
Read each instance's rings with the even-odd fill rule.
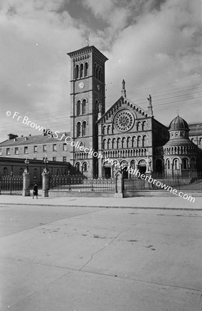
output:
[[[1,6],[0,106],[2,117],[9,108],[32,120],[43,117],[45,126],[46,116],[52,115],[57,129],[55,115],[61,116],[61,111],[69,115],[70,63],[66,53],[82,46],[83,30],[68,12],[57,12],[63,1],[55,2],[8,0]],[[3,135],[9,131],[8,125],[8,118],[3,117]]]

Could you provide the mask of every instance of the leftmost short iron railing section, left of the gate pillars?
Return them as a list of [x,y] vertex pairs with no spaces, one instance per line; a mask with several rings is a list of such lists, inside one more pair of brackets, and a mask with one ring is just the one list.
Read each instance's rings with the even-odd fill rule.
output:
[[21,195],[23,193],[23,176],[1,176],[0,194]]

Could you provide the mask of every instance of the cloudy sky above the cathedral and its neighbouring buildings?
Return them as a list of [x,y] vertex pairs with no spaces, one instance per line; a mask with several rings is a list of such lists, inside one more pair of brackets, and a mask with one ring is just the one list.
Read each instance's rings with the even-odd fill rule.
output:
[[[168,125],[202,122],[200,0],[0,0],[0,141],[38,135],[28,120],[70,130],[70,58],[87,45],[108,57],[106,108],[121,96]],[[10,115],[6,115],[10,111]],[[13,118],[17,111],[21,119]]]

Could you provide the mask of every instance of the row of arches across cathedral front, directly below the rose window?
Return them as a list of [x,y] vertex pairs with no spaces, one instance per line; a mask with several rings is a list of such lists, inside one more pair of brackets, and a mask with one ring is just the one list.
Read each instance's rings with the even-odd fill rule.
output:
[[103,149],[124,149],[124,148],[148,147],[148,136],[129,136],[123,138],[108,138],[103,140]]

